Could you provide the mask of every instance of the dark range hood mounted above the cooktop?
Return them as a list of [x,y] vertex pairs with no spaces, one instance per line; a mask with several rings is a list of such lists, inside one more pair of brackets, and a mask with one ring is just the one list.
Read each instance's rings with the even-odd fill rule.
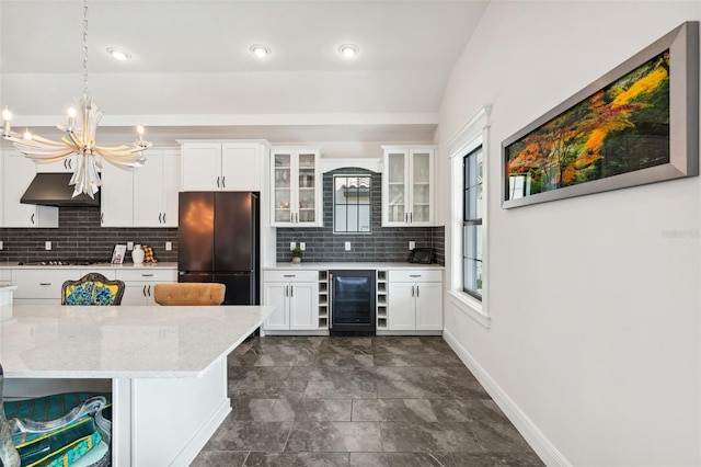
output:
[[42,206],[100,206],[100,192],[94,200],[84,193],[73,196],[73,185],[69,185],[72,173],[37,173],[20,202]]

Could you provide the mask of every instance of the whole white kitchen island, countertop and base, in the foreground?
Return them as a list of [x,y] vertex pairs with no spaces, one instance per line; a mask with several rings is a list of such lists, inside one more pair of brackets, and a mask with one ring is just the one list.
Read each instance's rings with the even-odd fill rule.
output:
[[186,466],[231,411],[227,355],[273,310],[2,306],[5,392],[41,387],[50,394],[71,380],[106,384],[114,405],[112,465]]

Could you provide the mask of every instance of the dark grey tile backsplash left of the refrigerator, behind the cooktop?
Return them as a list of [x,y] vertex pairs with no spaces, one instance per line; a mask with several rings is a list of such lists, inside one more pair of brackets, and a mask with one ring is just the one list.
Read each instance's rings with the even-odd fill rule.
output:
[[[0,261],[32,261],[38,259],[84,260],[110,262],[116,243],[148,244],[158,261],[177,261],[176,228],[106,228],[100,225],[100,207],[61,207],[58,228],[0,228]],[[44,249],[51,242],[51,250]],[[173,249],[165,251],[165,242]],[[131,262],[127,254],[125,262]]]

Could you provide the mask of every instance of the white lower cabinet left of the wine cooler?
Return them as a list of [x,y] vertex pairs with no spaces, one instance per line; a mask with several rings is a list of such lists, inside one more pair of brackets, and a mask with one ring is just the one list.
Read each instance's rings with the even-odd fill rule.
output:
[[265,271],[263,305],[272,305],[276,308],[265,321],[266,331],[318,330],[318,272]]

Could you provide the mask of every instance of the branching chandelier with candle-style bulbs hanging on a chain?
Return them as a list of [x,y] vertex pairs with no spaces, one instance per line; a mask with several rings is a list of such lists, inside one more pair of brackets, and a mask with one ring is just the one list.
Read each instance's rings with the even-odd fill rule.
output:
[[[135,169],[146,162],[142,151],[151,147],[151,143],[143,140],[143,127],[138,126],[138,139],[131,146],[104,147],[95,144],[97,124],[102,112],[88,96],[88,0],[83,0],[83,99],[76,107],[68,110],[68,124],[57,125],[64,132],[60,141],[32,135],[28,130],[24,135],[12,132],[10,119],[12,114],[8,109],[2,112],[2,137],[15,149],[36,163],[51,163],[76,155],[76,169],[70,184],[74,186],[73,197],[85,193],[94,197],[102,184],[97,169],[102,168],[100,159],[120,168]],[[76,117],[79,126],[76,126]],[[99,159],[100,158],[100,159]]]

